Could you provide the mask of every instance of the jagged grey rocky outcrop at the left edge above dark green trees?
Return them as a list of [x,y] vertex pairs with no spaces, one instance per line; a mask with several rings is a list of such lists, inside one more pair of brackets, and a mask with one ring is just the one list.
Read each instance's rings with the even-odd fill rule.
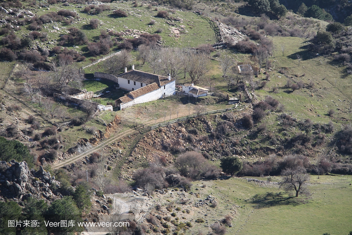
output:
[[29,170],[26,162],[0,162],[0,196],[26,200],[29,197],[54,199],[51,186],[60,183],[50,172],[40,166],[38,171]]

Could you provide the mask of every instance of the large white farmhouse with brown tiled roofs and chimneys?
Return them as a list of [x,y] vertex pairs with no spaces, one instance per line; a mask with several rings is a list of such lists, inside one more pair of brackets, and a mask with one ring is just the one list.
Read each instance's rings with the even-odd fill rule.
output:
[[164,95],[175,94],[175,79],[171,79],[170,74],[165,77],[146,73],[135,70],[133,65],[132,70],[127,71],[125,68],[125,72],[117,78],[120,88],[130,91],[115,101],[115,106],[118,106],[120,110],[135,104],[163,98]]

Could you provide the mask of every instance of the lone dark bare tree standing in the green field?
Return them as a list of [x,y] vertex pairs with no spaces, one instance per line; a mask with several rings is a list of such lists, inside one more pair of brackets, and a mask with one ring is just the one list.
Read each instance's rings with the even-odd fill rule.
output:
[[298,193],[309,194],[307,184],[309,183],[309,175],[306,174],[304,167],[289,167],[285,168],[282,172],[283,179],[280,187],[286,191],[295,191],[296,197]]

